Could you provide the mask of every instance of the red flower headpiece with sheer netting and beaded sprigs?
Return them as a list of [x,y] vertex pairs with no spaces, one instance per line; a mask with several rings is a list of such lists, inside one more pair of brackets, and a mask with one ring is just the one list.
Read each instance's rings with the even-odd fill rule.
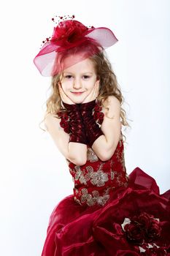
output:
[[[81,48],[81,45],[88,43],[96,45],[99,52],[114,45],[117,41],[118,39],[110,29],[104,27],[94,28],[93,26],[88,28],[77,20],[62,20],[58,23],[58,26],[54,27],[52,38],[47,38],[47,42],[43,41],[45,43],[34,58],[34,64],[41,75],[53,76],[59,72],[59,69],[55,67],[58,54],[78,46]],[[90,53],[80,56],[76,61],[67,62],[64,67],[70,67],[78,61],[92,56],[94,53],[92,50]]]

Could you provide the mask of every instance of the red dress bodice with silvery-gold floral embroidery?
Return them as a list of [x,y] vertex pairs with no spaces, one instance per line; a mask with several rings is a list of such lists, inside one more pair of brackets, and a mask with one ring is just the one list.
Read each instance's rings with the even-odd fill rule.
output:
[[112,189],[128,184],[122,132],[117,148],[109,160],[101,161],[90,146],[85,165],[74,165],[69,159],[66,160],[74,181],[74,200],[80,205],[93,206],[98,203],[104,206]]

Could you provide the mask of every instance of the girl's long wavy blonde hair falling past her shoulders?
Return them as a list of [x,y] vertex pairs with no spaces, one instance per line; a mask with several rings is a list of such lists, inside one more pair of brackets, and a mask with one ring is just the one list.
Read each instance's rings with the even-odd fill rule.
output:
[[[57,59],[55,60],[55,67],[58,69],[58,65],[61,65],[63,62],[63,59],[65,59],[69,55],[74,55],[77,53],[87,53],[90,52],[90,56],[88,58],[93,61],[94,69],[96,70],[97,78],[100,80],[100,89],[98,94],[98,102],[104,107],[104,102],[107,100],[107,97],[110,95],[115,96],[119,102],[120,102],[120,120],[124,127],[131,127],[128,124],[127,118],[126,118],[126,112],[123,109],[122,105],[123,102],[125,102],[125,99],[123,97],[123,94],[121,93],[120,86],[117,83],[117,78],[115,73],[112,70],[112,65],[109,62],[109,59],[107,58],[107,54],[104,52],[104,49],[101,48],[101,50],[98,52],[96,50],[98,49],[98,46],[94,44],[85,44],[81,45],[81,47],[76,47],[69,49],[65,51],[64,53],[58,53]],[[91,53],[94,53],[93,55]],[[63,76],[63,72],[58,72],[56,75],[52,77],[51,80],[51,94],[50,97],[46,101],[46,112],[45,117],[48,113],[53,114],[53,116],[58,118],[58,111],[64,111],[64,108],[61,104],[61,97],[58,91],[58,83],[61,83],[61,79]],[[44,119],[39,123],[41,124]],[[40,129],[42,129],[40,127]],[[46,132],[45,129],[43,131]],[[123,135],[125,138],[125,135]],[[126,138],[125,138],[126,139]],[[125,140],[124,140],[125,142]]]

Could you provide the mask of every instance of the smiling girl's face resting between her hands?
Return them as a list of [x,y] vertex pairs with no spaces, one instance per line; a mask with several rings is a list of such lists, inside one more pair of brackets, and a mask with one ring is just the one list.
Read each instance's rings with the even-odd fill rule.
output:
[[[66,61],[69,61],[69,58],[74,58],[74,56],[69,56]],[[92,91],[96,80],[97,75],[93,62],[90,59],[85,59],[64,69],[61,86],[72,102],[81,103]]]

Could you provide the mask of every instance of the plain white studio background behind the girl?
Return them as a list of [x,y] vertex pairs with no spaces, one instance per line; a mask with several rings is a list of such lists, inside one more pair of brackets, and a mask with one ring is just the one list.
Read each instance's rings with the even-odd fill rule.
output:
[[107,50],[132,129],[125,133],[127,172],[170,188],[169,41],[167,0],[7,1],[1,7],[1,255],[40,256],[53,208],[72,194],[66,160],[39,129],[50,78],[34,66],[54,15],[107,26],[119,39]]

